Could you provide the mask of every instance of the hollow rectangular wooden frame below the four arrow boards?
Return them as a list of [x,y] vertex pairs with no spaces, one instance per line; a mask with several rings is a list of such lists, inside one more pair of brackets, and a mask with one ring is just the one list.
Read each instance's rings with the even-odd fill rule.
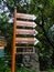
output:
[[34,47],[18,47],[17,52],[18,54],[35,53],[35,48]]

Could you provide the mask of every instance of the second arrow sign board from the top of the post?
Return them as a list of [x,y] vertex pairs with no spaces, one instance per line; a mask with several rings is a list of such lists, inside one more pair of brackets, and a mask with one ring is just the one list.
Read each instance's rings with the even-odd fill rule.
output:
[[17,21],[18,27],[29,27],[29,28],[35,28],[35,22],[29,22],[29,21]]

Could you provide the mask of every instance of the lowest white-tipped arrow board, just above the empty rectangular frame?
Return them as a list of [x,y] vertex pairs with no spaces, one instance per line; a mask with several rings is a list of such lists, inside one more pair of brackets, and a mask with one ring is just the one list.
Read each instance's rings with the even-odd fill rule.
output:
[[18,44],[36,44],[39,41],[35,38],[17,38],[15,42]]

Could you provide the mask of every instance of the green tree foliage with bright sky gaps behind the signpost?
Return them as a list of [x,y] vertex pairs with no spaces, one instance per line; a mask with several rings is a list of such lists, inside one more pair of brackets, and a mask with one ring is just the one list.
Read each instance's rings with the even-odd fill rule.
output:
[[[11,48],[13,29],[13,23],[10,23],[9,20],[13,18],[15,6],[18,12],[37,17],[35,29],[39,31],[36,38],[40,40],[36,45],[40,69],[54,69],[54,0],[0,0],[0,34],[6,37],[8,48]],[[7,52],[9,49],[7,49]]]

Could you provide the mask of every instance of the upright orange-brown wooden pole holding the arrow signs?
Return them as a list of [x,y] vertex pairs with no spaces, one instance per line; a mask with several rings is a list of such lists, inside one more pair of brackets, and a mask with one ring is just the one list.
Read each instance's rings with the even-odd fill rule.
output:
[[13,44],[12,44],[12,64],[11,64],[11,72],[15,72],[15,22],[17,22],[17,8],[14,9],[14,23],[13,23]]

